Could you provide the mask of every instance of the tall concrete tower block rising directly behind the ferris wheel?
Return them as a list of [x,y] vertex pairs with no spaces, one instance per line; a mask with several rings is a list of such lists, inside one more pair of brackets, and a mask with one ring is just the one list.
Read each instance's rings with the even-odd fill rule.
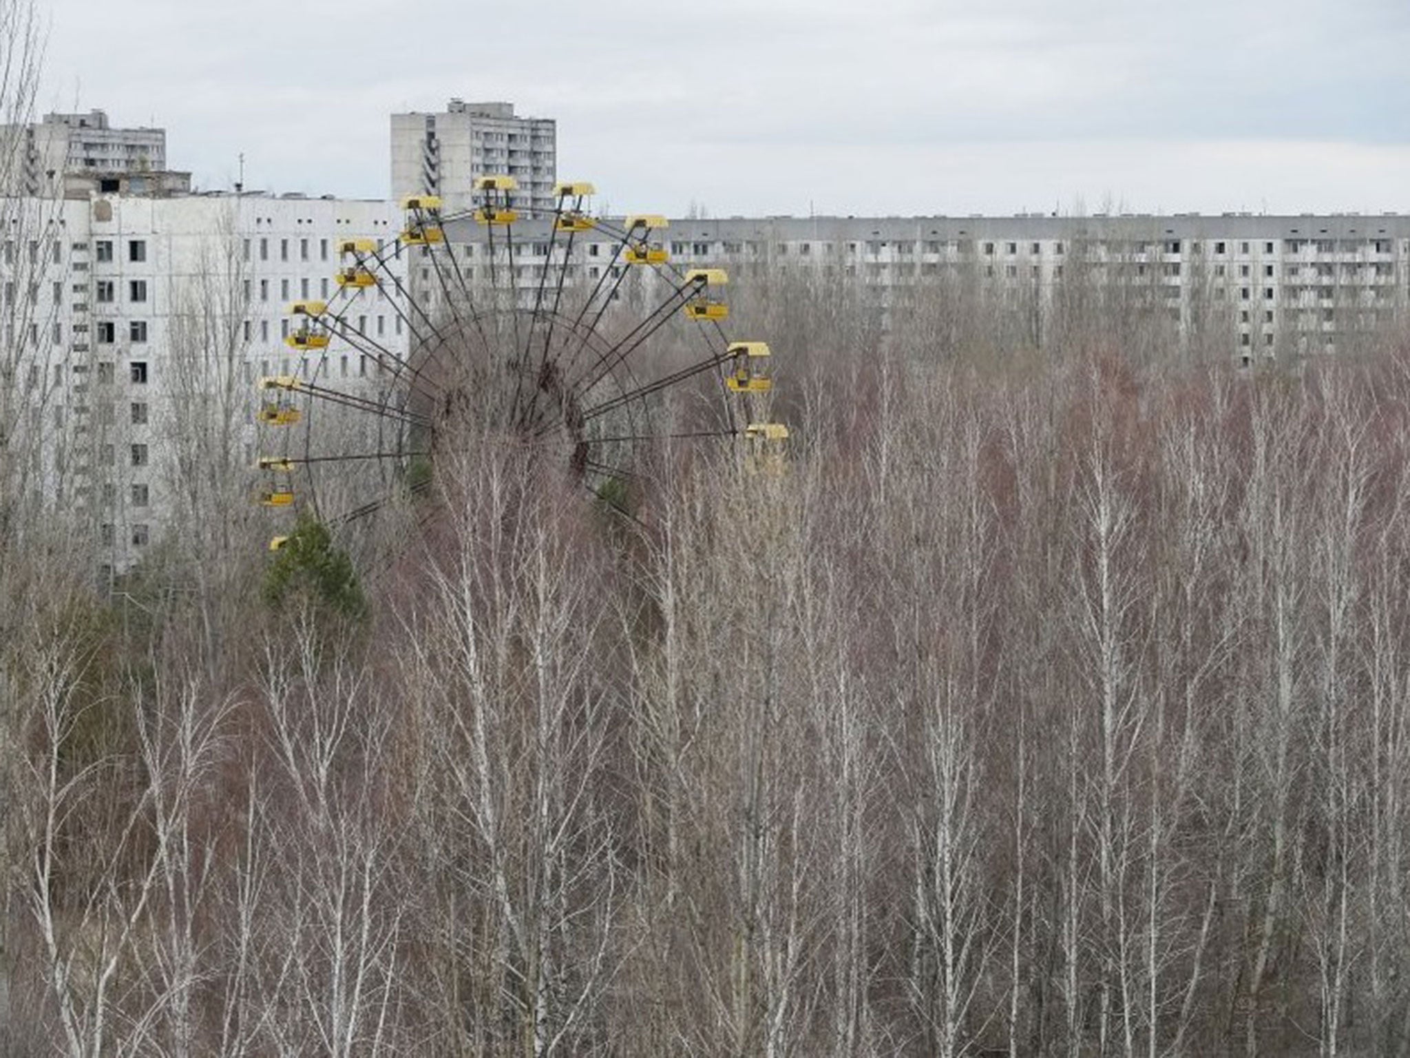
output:
[[392,114],[392,196],[439,195],[446,213],[474,205],[477,176],[519,181],[522,207],[553,212],[557,126],[547,117],[516,117],[513,103],[453,99],[444,113]]

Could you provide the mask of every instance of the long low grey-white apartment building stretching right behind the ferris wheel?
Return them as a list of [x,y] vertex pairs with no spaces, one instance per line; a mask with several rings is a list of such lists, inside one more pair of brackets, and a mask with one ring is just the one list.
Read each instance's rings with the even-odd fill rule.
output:
[[[650,237],[673,264],[723,265],[732,282],[857,284],[884,324],[942,296],[946,281],[1039,310],[1063,284],[1120,285],[1128,303],[1180,330],[1196,317],[1227,322],[1230,350],[1245,361],[1335,351],[1410,312],[1410,216],[1399,214],[671,219]],[[468,267],[477,253],[484,260],[484,227],[457,221],[448,238],[464,244]],[[550,245],[557,269],[565,244],[548,223],[516,226],[520,288],[534,289]],[[603,231],[578,234],[570,281],[620,272],[616,245]]]

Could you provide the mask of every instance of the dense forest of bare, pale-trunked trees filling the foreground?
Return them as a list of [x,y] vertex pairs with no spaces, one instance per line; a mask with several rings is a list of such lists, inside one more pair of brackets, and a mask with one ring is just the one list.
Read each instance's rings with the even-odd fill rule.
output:
[[0,552],[0,1054],[1410,1054],[1410,351],[835,293],[783,467],[470,437],[355,611]]

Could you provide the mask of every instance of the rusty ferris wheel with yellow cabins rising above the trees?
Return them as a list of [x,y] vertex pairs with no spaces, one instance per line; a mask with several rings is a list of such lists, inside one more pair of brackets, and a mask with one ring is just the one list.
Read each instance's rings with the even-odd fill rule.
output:
[[288,309],[295,370],[258,381],[258,502],[336,530],[486,437],[632,519],[661,444],[777,466],[770,348],[728,334],[725,269],[673,264],[663,216],[594,216],[591,183],[557,183],[539,219],[517,192],[481,176],[451,213],[415,195],[398,237],[337,243],[336,289]]

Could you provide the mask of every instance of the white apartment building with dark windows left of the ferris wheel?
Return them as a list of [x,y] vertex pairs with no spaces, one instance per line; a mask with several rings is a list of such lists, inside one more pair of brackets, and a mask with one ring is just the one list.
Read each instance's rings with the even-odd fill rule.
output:
[[[193,401],[235,416],[234,454],[252,466],[257,379],[307,377],[312,364],[285,341],[298,326],[290,302],[334,302],[406,354],[403,257],[386,262],[391,284],[336,300],[338,241],[395,240],[403,214],[391,203],[217,193],[10,205],[0,279],[24,406],[11,429],[41,439],[49,499],[92,522],[106,573],[180,532],[175,446]],[[375,387],[365,348],[334,339],[327,355],[337,385]]]

